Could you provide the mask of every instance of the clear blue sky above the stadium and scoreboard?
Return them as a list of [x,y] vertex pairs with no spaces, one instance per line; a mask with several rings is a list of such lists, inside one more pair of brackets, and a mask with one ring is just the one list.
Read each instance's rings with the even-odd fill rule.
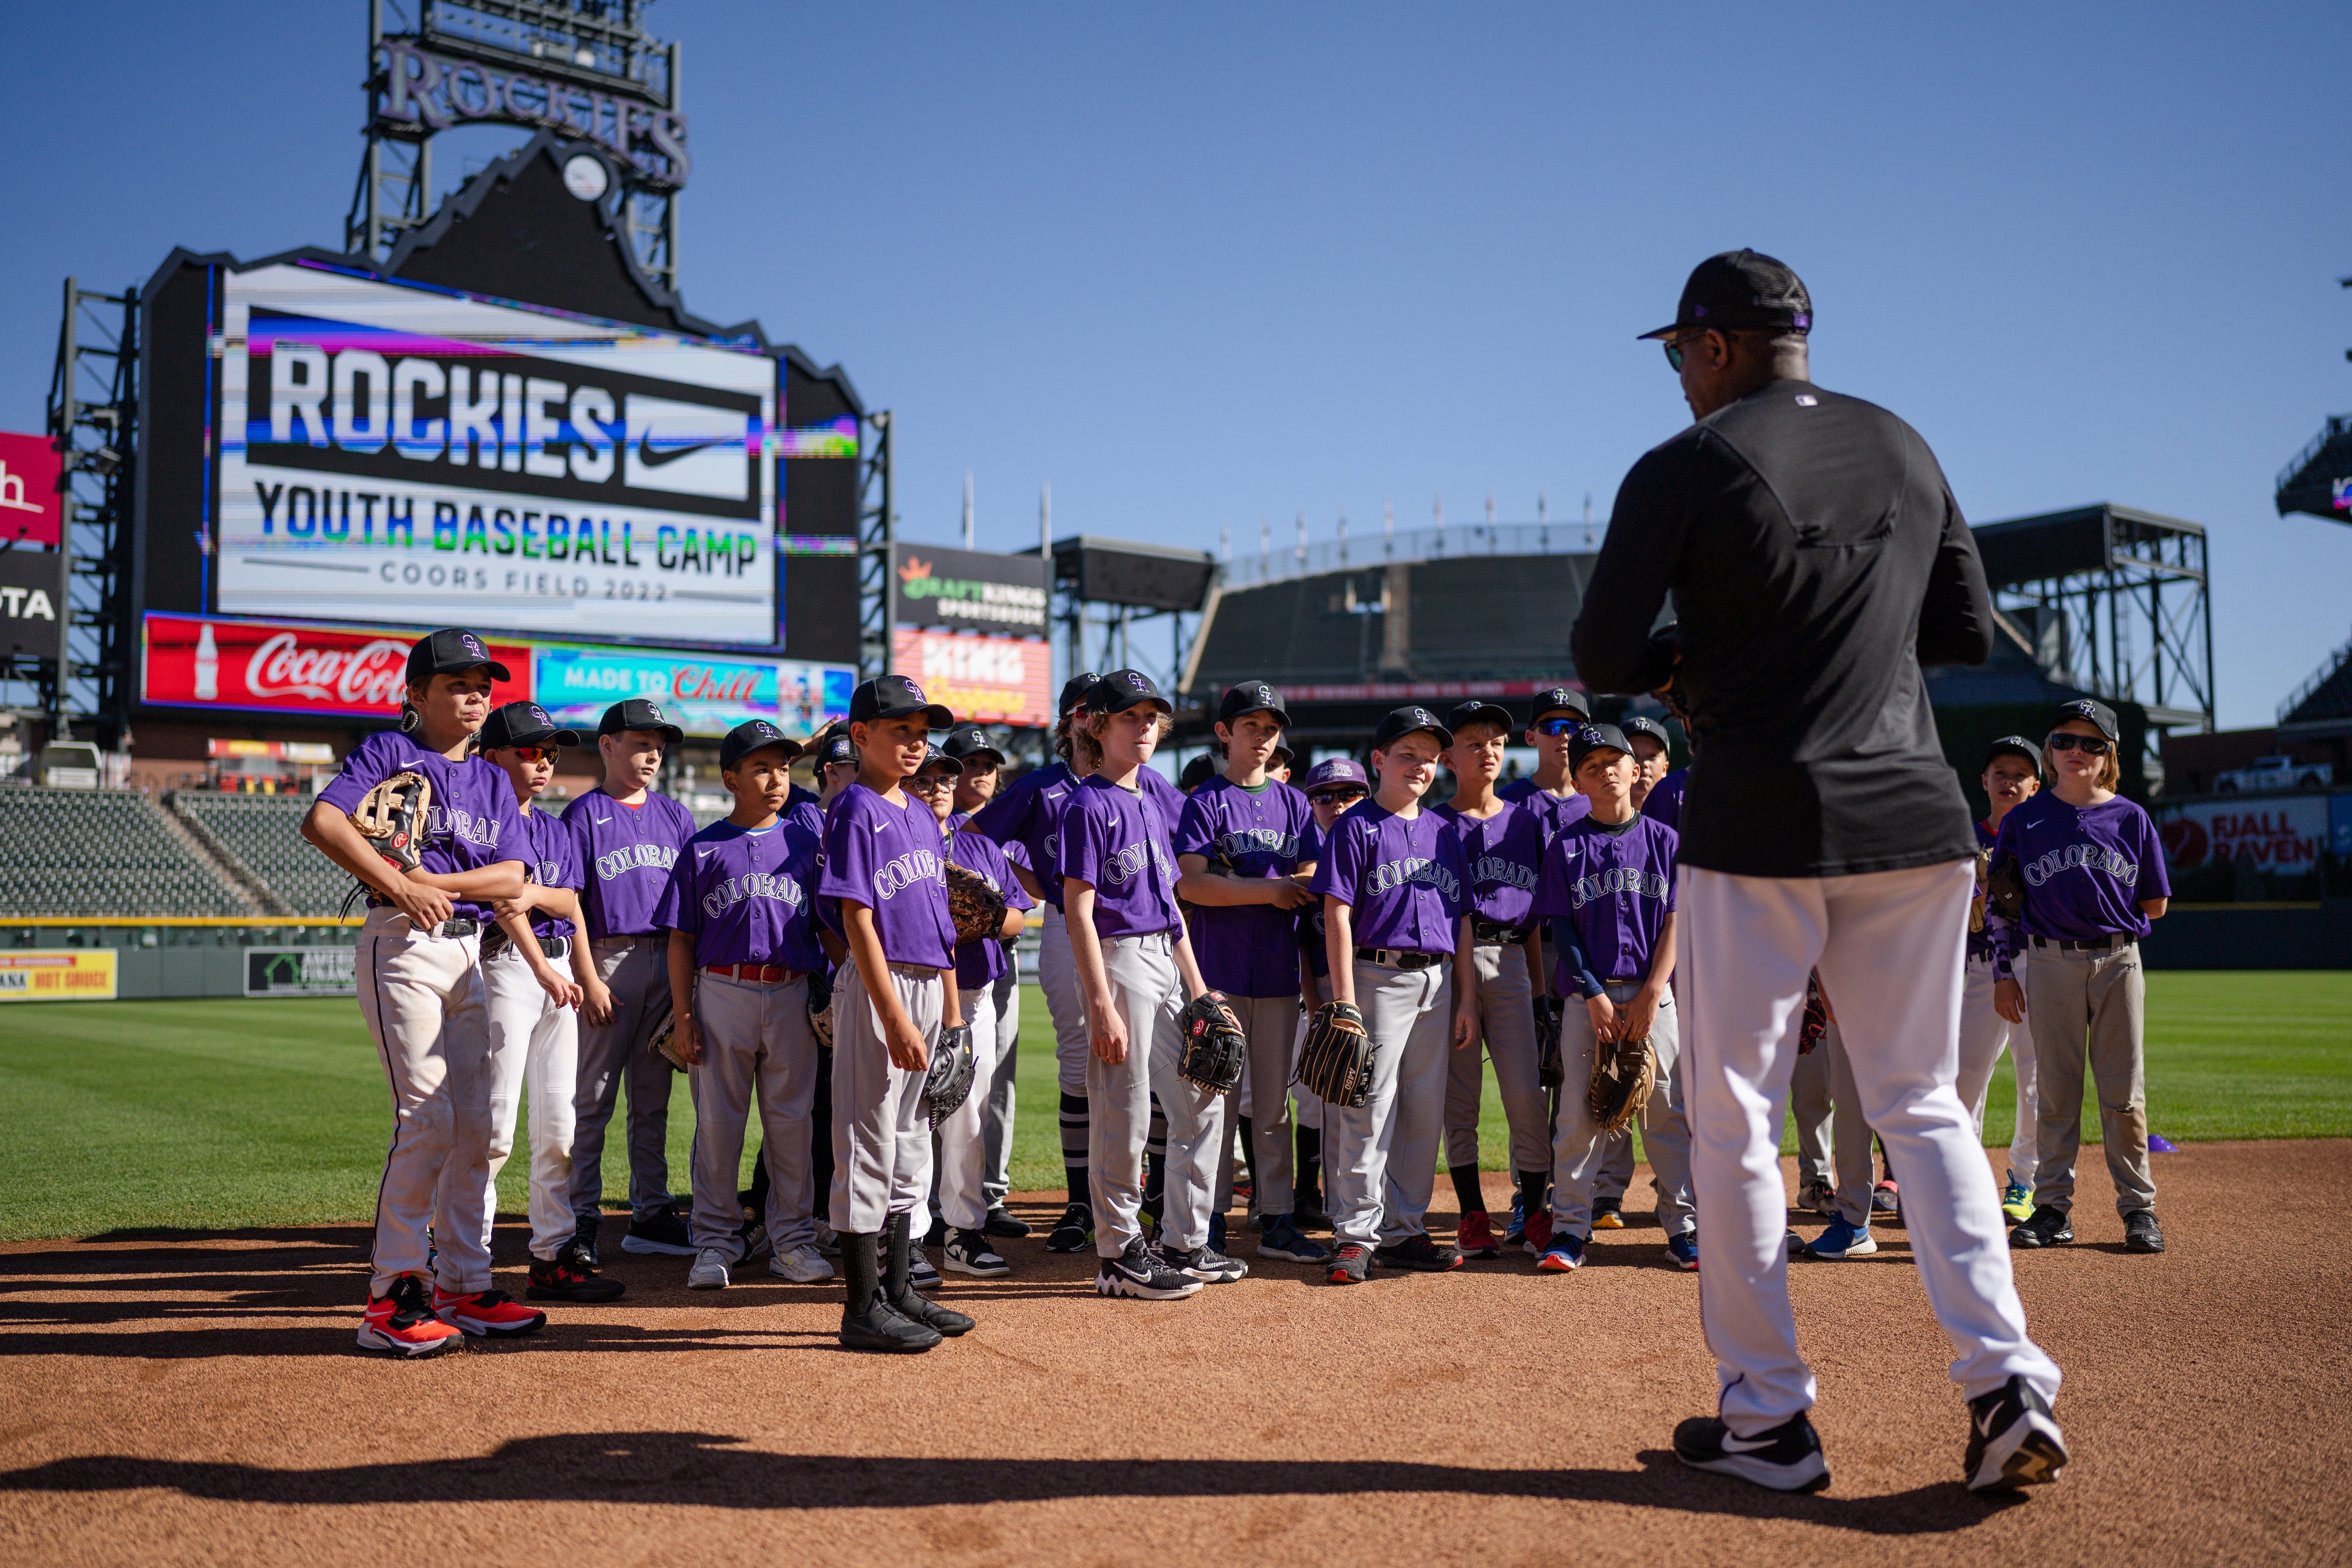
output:
[[[1987,522],[2086,501],[2213,536],[2220,717],[2352,630],[2352,527],[2277,468],[2352,409],[2343,5],[978,7],[661,0],[687,303],[901,416],[908,534],[1237,545],[1606,515],[1686,411],[1689,266],[1813,289],[1813,371]],[[0,425],[66,273],[339,244],[362,0],[0,12]],[[445,143],[442,183],[520,141]]]

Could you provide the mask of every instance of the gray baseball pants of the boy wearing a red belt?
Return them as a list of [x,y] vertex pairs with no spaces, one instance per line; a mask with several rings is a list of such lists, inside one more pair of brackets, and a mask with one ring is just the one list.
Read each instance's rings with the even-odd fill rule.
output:
[[743,1255],[743,1126],[760,1107],[767,1161],[767,1234],[779,1253],[816,1241],[816,1180],[809,1171],[809,1114],[816,1107],[816,1030],[809,980],[762,985],[703,971],[694,978],[694,1023],[703,1060],[687,1074],[694,1093],[694,1246]]

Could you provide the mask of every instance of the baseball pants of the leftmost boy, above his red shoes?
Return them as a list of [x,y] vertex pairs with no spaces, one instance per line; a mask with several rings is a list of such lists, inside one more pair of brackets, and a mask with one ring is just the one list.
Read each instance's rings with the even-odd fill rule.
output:
[[489,1288],[489,1006],[482,938],[421,936],[400,910],[360,926],[360,1016],[393,1086],[393,1147],[376,1187],[369,1293],[426,1272],[442,1291]]

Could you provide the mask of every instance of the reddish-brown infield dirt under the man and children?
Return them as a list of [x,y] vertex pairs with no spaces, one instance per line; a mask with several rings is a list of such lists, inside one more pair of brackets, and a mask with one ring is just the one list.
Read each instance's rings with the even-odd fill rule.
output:
[[[920,1359],[842,1352],[837,1286],[687,1293],[687,1260],[616,1255],[614,1307],[390,1363],[353,1349],[350,1227],[14,1244],[0,1559],[2343,1561],[2352,1145],[2197,1145],[2157,1180],[2164,1258],[2124,1255],[2086,1180],[2082,1244],[2018,1260],[2074,1446],[2025,1502],[1957,1483],[1900,1229],[1790,1269],[1818,1497],[1665,1450],[1715,1373],[1646,1213],[1569,1276],[1515,1255],[1348,1291],[1268,1265],[1171,1305],[1007,1244],[1014,1279],[943,1291],[981,1328]],[[499,1253],[520,1291],[520,1227]]]

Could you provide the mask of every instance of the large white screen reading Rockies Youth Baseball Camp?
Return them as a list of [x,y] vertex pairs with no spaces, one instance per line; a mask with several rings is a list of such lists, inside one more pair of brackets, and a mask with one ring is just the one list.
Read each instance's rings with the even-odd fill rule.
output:
[[221,614],[776,639],[767,355],[318,266],[216,348]]

